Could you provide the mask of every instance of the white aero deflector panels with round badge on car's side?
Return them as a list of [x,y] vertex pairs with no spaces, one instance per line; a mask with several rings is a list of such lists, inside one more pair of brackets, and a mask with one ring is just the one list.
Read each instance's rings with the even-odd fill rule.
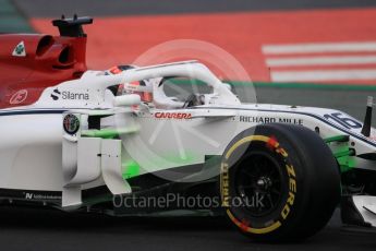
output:
[[[63,115],[62,207],[82,206],[83,184],[102,180],[112,194],[131,193],[121,174],[121,140],[83,135],[88,115]],[[77,129],[77,130],[75,130]],[[70,131],[72,130],[72,131]]]

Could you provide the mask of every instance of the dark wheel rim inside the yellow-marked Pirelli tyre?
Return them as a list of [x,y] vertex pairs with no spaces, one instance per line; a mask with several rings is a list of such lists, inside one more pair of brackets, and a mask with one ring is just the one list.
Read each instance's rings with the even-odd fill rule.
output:
[[239,164],[235,186],[236,198],[250,216],[268,215],[278,208],[282,198],[280,165],[269,154],[251,153]]

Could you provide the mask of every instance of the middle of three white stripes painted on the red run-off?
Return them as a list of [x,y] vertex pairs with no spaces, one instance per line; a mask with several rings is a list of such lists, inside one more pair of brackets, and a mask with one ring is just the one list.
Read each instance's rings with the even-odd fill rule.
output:
[[304,58],[268,58],[268,67],[301,67],[301,65],[332,65],[332,64],[367,64],[376,63],[376,56],[335,56],[335,57],[304,57]]

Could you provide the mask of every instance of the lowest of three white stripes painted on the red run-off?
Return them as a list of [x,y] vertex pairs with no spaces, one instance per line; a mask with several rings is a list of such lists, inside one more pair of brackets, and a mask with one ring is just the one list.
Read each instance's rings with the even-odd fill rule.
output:
[[272,82],[360,81],[375,80],[375,70],[272,71]]

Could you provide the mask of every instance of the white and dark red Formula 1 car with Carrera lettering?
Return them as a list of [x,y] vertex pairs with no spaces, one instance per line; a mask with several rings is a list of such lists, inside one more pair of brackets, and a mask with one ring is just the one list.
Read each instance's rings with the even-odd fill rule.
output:
[[[242,104],[197,61],[87,70],[89,23],[0,36],[2,204],[225,214],[263,241],[310,237],[339,205],[343,223],[376,227],[371,98],[362,123],[332,109]],[[182,79],[206,92],[165,92]]]

